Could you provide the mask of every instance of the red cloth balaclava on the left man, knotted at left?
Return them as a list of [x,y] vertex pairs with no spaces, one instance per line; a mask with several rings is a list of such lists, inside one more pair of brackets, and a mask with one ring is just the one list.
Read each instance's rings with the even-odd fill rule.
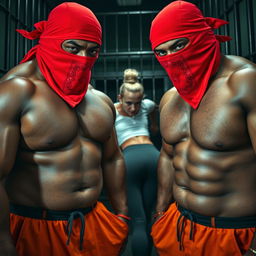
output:
[[97,57],[71,54],[62,49],[68,39],[80,39],[101,45],[101,25],[85,6],[66,2],[55,7],[47,21],[34,24],[35,30],[17,31],[28,39],[39,42],[21,63],[36,57],[40,71],[49,86],[71,107],[81,102],[88,89],[91,69]]

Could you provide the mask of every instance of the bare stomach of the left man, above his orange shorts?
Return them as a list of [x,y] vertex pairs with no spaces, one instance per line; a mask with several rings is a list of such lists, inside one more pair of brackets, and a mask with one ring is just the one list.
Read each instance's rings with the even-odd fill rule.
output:
[[102,189],[100,158],[94,146],[54,153],[23,152],[6,180],[9,200],[51,210],[92,206]]

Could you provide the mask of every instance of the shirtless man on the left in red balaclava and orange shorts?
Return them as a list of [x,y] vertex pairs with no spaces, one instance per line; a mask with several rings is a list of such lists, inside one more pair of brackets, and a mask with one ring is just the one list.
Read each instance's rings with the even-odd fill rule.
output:
[[[115,108],[88,89],[101,26],[63,3],[35,27],[19,30],[39,43],[0,85],[0,255],[119,255],[128,227]],[[103,183],[116,215],[97,202]]]

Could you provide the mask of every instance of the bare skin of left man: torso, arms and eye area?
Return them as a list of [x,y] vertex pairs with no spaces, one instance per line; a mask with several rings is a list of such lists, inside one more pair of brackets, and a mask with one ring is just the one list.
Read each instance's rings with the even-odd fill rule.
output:
[[[62,47],[81,56],[99,52],[97,44],[84,40],[66,40]],[[52,210],[88,207],[104,183],[115,213],[127,215],[115,109],[105,94],[89,87],[71,108],[48,86],[33,59],[1,79],[0,105],[1,256],[16,255],[9,201]]]

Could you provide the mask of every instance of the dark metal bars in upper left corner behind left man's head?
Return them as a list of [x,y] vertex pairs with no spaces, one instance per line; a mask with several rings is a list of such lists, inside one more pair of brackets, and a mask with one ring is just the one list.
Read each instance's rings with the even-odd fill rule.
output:
[[[17,65],[33,43],[22,38],[16,28],[32,30],[32,25],[46,18],[48,7],[44,0],[5,0],[0,2],[2,46],[0,76]],[[47,10],[48,11],[48,10]]]

